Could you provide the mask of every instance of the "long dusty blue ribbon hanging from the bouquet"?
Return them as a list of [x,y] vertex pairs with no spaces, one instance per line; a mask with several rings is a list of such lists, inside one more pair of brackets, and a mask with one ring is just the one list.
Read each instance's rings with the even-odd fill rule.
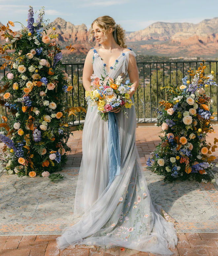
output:
[[119,127],[116,114],[108,113],[108,157],[109,157],[109,184],[114,177],[120,174],[121,149]]

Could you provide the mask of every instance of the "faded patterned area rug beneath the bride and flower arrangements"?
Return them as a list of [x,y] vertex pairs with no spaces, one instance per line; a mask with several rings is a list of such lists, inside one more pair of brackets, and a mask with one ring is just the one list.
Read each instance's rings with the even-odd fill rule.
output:
[[[0,176],[0,236],[59,235],[73,219],[79,168],[64,168],[63,180],[48,177]],[[165,183],[144,171],[152,201],[173,217],[178,232],[218,233],[217,185],[197,182]]]

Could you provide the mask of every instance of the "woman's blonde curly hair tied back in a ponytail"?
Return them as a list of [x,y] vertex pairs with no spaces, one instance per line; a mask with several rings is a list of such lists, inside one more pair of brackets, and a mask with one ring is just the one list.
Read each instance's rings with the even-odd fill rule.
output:
[[93,24],[96,24],[99,26],[99,28],[101,29],[101,31],[104,33],[105,36],[107,36],[108,34],[108,30],[110,27],[113,28],[113,36],[114,36],[114,30],[115,27],[116,28],[116,35],[117,35],[117,43],[123,47],[123,48],[127,48],[127,46],[125,45],[126,42],[126,37],[125,37],[125,30],[121,27],[120,24],[116,24],[114,19],[111,18],[110,16],[101,16],[96,18],[92,23],[91,23],[91,30],[90,30],[90,38],[89,41],[91,41],[93,39],[93,29],[92,26]]

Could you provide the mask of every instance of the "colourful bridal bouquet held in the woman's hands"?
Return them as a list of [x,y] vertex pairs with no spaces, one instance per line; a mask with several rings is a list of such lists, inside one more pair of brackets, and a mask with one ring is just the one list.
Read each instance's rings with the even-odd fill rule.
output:
[[[101,114],[102,120],[107,121],[108,113],[116,107],[122,107],[126,115],[127,112],[124,107],[131,108],[134,105],[128,92],[134,91],[135,89],[131,88],[132,83],[129,83],[129,80],[126,80],[125,84],[122,84],[123,79],[121,76],[118,76],[116,80],[108,76],[105,78],[101,76],[100,79],[94,74],[91,75],[91,79],[94,79],[91,82],[91,91],[85,92],[85,99],[91,102],[91,106],[97,105],[98,113]],[[106,113],[101,111],[106,111]]]

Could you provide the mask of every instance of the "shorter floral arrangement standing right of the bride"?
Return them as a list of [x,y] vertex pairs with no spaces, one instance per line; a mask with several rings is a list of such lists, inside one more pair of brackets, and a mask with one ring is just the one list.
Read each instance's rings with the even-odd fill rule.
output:
[[216,158],[212,152],[217,148],[218,139],[214,138],[214,145],[205,139],[208,132],[213,132],[210,122],[217,113],[205,88],[218,85],[213,81],[214,72],[205,75],[205,68],[204,63],[200,63],[195,73],[188,71],[192,81],[184,77],[181,86],[161,88],[167,99],[160,102],[164,108],[158,110],[161,143],[148,159],[147,168],[164,175],[164,180],[211,180],[211,162]]

